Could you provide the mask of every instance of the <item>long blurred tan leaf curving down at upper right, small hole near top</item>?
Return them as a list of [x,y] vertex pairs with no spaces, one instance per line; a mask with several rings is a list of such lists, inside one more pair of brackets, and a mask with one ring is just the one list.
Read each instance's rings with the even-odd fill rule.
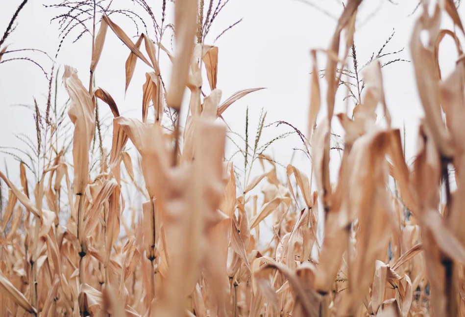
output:
[[[425,25],[426,22],[429,25]],[[431,39],[427,47],[423,46],[420,39],[420,33],[425,29],[430,37],[434,37],[439,32],[440,22],[441,9],[439,6],[436,6],[432,18],[428,17],[427,13],[424,13],[423,17],[418,19],[414,26],[410,50],[412,52],[418,94],[425,110],[426,124],[441,151],[441,155],[452,157],[454,153],[453,145],[450,135],[442,123],[441,108],[439,107],[439,78],[433,48],[435,39]]]

